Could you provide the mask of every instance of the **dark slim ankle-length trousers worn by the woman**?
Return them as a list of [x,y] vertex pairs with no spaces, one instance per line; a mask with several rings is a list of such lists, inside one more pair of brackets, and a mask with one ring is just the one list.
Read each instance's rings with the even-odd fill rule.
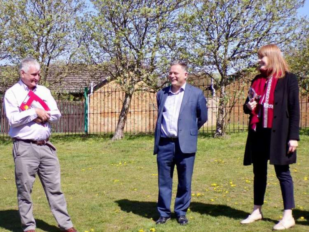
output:
[[[256,128],[253,157],[254,173],[254,204],[263,205],[267,185],[267,163],[269,160],[271,129]],[[295,208],[293,180],[289,165],[274,165],[277,178],[280,182],[284,209]]]

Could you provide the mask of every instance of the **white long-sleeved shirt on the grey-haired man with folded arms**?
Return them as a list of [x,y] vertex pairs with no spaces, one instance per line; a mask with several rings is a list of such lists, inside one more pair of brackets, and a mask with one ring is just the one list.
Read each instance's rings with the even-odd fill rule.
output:
[[9,135],[11,138],[36,141],[46,140],[51,135],[49,122],[57,122],[61,117],[57,103],[48,88],[36,85],[33,92],[48,105],[50,118],[45,123],[36,123],[33,121],[37,118],[34,108],[24,111],[20,110],[19,106],[27,97],[29,88],[19,80],[4,95],[4,108],[10,124]]

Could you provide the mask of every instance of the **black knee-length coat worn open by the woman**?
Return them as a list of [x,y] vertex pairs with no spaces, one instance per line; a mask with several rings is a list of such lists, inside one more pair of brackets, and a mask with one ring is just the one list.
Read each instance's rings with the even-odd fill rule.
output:
[[[256,78],[256,77],[255,77]],[[299,88],[296,76],[286,73],[285,77],[278,79],[274,96],[273,127],[271,129],[269,160],[270,164],[288,165],[296,163],[296,151],[288,154],[289,140],[299,140]],[[250,114],[247,108],[247,98],[243,105],[245,114]],[[251,116],[249,117],[249,121]],[[243,160],[244,165],[251,165],[252,138],[255,131],[250,127]]]

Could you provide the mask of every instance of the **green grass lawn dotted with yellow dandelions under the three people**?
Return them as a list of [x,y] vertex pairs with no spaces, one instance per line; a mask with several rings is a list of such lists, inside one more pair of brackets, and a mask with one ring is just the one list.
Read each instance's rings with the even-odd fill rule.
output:
[[[201,135],[192,179],[189,225],[176,219],[155,225],[158,218],[157,162],[152,136],[109,138],[53,138],[62,171],[62,190],[68,211],[79,232],[84,231],[271,231],[282,215],[283,203],[273,165],[269,165],[263,207],[264,221],[240,225],[253,206],[252,166],[243,166],[247,133],[225,139]],[[11,142],[1,142],[0,231],[21,231]],[[309,231],[309,135],[301,135],[294,180],[296,226]],[[174,173],[173,200],[177,173]],[[59,231],[37,178],[32,193],[37,232]],[[152,229],[153,231],[153,229]]]

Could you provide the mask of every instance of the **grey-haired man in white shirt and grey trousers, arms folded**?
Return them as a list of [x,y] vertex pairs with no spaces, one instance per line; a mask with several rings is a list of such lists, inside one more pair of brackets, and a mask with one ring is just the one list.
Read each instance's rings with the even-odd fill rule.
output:
[[[40,64],[36,60],[23,59],[19,74],[18,83],[5,93],[4,107],[10,124],[9,135],[14,140],[15,181],[22,228],[26,232],[35,232],[31,192],[37,174],[60,229],[76,232],[61,191],[56,148],[49,141],[50,123],[59,120],[60,111],[49,89],[37,84],[40,80]],[[28,110],[21,109],[30,91],[47,104],[48,111],[40,104],[30,106]]]

